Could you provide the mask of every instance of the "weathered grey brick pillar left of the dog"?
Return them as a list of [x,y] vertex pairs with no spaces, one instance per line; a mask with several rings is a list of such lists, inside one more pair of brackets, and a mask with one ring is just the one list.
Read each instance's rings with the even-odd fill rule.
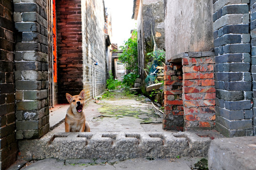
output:
[[16,138],[49,131],[48,31],[46,0],[15,0]]

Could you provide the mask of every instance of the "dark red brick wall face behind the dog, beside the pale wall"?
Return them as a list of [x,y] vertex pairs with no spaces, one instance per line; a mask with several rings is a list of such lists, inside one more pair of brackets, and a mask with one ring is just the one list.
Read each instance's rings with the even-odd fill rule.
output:
[[58,101],[83,89],[81,0],[56,0]]

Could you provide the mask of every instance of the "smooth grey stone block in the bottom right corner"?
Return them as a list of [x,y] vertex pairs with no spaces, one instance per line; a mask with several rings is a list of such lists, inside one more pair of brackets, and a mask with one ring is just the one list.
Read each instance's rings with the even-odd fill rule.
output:
[[209,170],[256,170],[256,136],[214,139],[208,152]]

